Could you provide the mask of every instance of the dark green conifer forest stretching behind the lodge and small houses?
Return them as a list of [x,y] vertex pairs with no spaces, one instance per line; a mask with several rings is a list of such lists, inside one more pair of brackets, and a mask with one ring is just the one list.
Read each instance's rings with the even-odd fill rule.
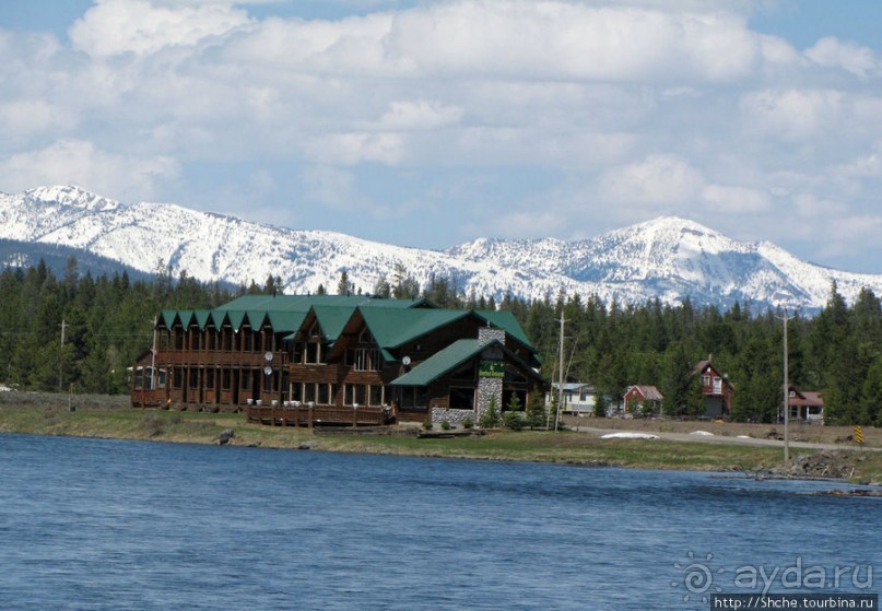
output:
[[[97,278],[80,273],[70,258],[57,277],[43,261],[0,273],[0,379],[22,390],[124,393],[127,367],[152,343],[162,309],[209,309],[246,293],[282,290],[279,278],[237,287],[173,278],[160,261],[149,281],[124,271]],[[320,292],[326,292],[322,287]],[[354,292],[345,271],[339,294]],[[604,304],[577,294],[501,299],[466,294],[456,279],[430,277],[423,286],[402,265],[383,278],[373,294],[425,297],[447,308],[507,309],[539,352],[543,373],[561,372],[564,319],[564,378],[595,386],[599,411],[621,401],[628,386],[657,386],[668,415],[698,412],[692,371],[709,359],[734,386],[732,418],[774,422],[783,403],[783,313],[736,304],[727,310],[658,299],[642,305]],[[789,380],[820,391],[825,419],[840,424],[882,425],[882,305],[865,289],[850,306],[831,286],[815,316],[791,313],[787,322]]]

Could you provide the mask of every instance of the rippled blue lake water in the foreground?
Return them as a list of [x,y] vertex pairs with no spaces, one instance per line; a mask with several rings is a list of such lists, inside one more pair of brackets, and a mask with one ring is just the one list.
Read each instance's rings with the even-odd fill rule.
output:
[[882,579],[882,500],[831,483],[0,435],[0,485],[3,610],[708,609],[751,568]]

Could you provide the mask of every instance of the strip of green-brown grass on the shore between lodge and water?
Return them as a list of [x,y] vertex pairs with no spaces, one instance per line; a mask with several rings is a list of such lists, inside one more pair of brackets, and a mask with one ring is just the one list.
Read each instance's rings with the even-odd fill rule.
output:
[[[776,447],[665,439],[600,439],[567,432],[490,432],[481,436],[416,438],[412,435],[328,435],[246,422],[242,413],[138,410],[127,397],[2,393],[0,433],[217,444],[232,428],[236,446],[310,447],[326,451],[422,457],[522,460],[646,469],[765,471],[781,465]],[[607,421],[595,422],[605,424]],[[613,424],[612,421],[609,424]],[[618,427],[624,425],[616,422]],[[670,427],[670,423],[659,423]],[[697,426],[692,423],[692,430]],[[717,425],[719,426],[719,425]],[[612,426],[610,426],[612,427]],[[643,430],[651,428],[640,423]],[[708,426],[703,425],[703,428]],[[767,426],[766,426],[767,427]],[[810,450],[791,450],[795,456]],[[882,453],[854,453],[857,481],[882,482]]]

